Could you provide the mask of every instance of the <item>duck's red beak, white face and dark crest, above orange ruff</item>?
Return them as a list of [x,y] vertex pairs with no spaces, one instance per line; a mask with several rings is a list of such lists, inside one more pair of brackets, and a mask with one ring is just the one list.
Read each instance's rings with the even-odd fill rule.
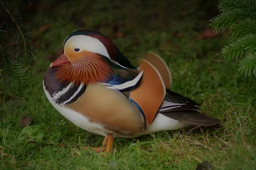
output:
[[136,68],[108,37],[89,30],[77,30],[69,34],[64,40],[61,57],[52,62],[51,66],[73,62],[81,57],[84,51],[105,56],[126,68]]

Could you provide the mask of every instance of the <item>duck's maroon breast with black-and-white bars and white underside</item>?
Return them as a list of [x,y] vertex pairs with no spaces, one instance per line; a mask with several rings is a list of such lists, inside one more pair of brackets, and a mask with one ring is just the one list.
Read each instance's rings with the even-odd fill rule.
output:
[[55,78],[58,67],[48,68],[43,80],[44,92],[52,106],[59,111],[64,117],[69,119],[78,127],[92,133],[107,136],[103,131],[103,127],[96,123],[92,123],[86,116],[67,108],[66,105],[75,102],[84,93],[86,85],[79,85],[73,82],[60,82]]

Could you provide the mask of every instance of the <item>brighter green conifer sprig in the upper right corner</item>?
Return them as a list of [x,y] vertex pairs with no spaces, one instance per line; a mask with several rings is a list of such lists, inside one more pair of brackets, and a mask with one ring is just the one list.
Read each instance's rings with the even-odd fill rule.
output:
[[224,58],[244,57],[239,71],[256,76],[256,0],[220,0],[217,17],[210,20],[215,31],[229,28],[229,45],[222,48]]

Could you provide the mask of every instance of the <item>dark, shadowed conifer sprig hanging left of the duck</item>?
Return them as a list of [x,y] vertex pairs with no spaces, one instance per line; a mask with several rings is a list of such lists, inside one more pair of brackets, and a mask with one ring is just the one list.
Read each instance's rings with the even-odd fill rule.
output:
[[[26,72],[23,70],[24,61],[34,61],[34,49],[32,47],[32,34],[24,25],[18,11],[18,6],[26,8],[35,0],[3,1],[0,0],[0,76],[6,75],[15,84],[26,80]],[[9,3],[20,2],[17,6]],[[15,41],[13,47],[8,42]]]

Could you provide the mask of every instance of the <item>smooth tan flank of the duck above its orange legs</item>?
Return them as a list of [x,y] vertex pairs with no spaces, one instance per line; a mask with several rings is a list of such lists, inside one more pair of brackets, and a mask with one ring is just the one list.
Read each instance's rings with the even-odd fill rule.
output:
[[67,107],[116,133],[144,131],[143,117],[134,105],[118,91],[99,83],[89,84],[84,94]]

